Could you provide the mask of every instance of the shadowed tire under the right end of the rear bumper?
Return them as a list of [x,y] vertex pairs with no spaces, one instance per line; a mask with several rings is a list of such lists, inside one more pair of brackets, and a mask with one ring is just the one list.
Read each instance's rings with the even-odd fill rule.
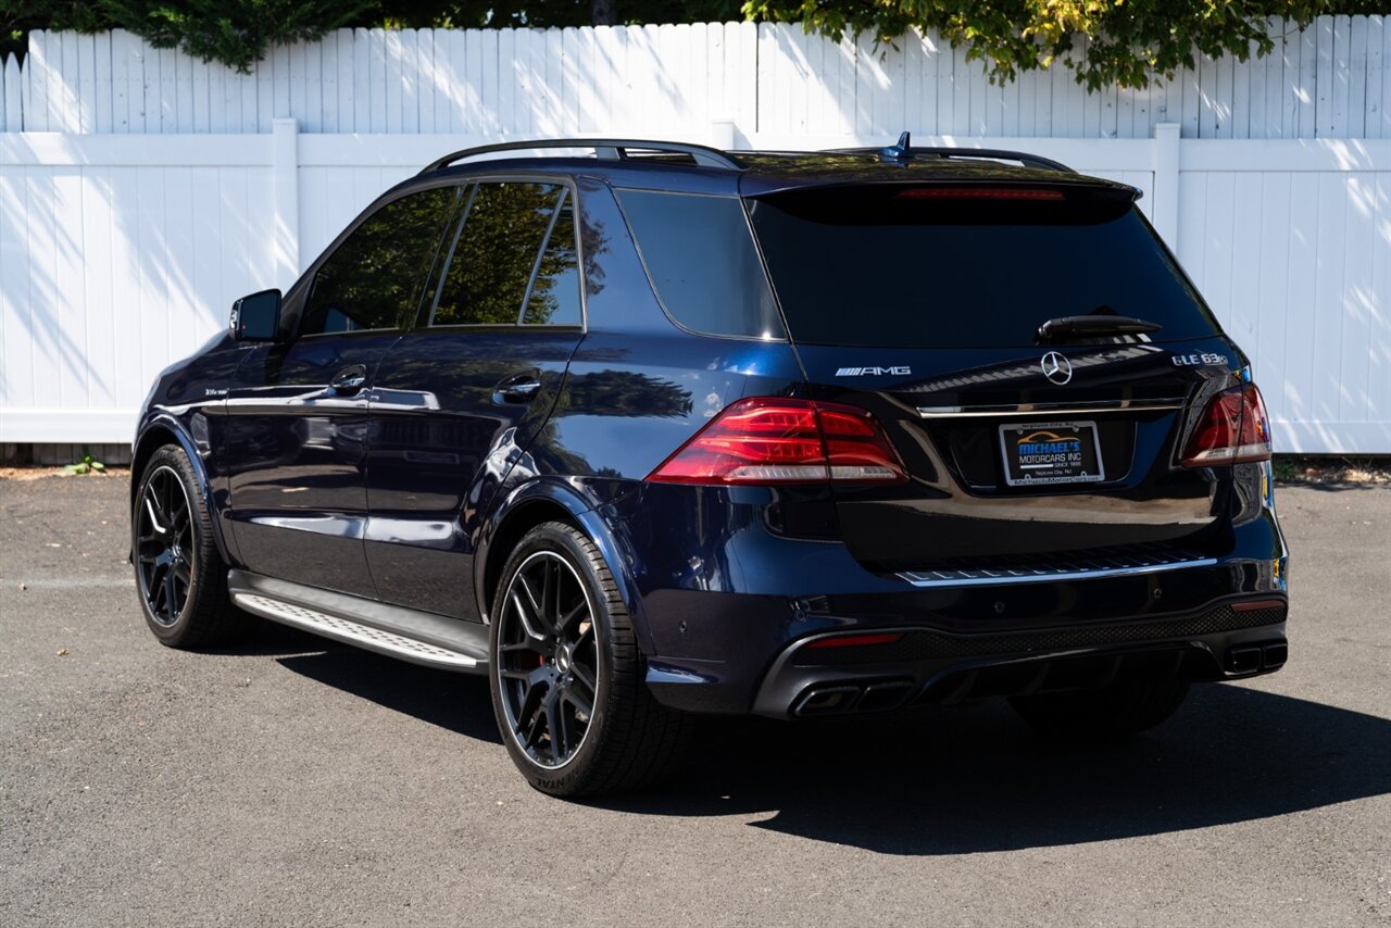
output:
[[1015,696],[1014,711],[1039,732],[1070,742],[1113,740],[1148,730],[1173,715],[1188,680],[1136,678],[1102,690]]

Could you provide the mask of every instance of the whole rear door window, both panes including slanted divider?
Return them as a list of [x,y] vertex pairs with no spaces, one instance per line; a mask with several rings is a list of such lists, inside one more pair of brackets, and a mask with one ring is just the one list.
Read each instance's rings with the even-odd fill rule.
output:
[[579,326],[570,199],[559,184],[477,184],[451,243],[430,324]]

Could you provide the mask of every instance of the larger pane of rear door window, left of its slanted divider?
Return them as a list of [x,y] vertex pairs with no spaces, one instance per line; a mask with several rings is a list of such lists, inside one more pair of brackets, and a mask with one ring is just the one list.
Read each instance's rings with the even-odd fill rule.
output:
[[430,324],[516,326],[563,192],[556,184],[479,184]]

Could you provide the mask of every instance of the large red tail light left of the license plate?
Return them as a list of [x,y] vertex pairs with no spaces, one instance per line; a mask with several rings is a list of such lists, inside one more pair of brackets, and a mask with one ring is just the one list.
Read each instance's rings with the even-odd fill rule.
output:
[[899,483],[907,473],[864,409],[805,399],[730,403],[647,477],[654,483]]

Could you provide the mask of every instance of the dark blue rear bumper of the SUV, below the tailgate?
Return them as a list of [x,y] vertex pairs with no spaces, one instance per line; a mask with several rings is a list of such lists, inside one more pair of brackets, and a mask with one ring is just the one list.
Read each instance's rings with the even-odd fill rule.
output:
[[[857,701],[846,711],[868,711],[876,703],[1042,691],[1068,680],[1096,685],[1107,673],[1139,672],[1150,662],[1143,655],[1171,659],[1166,672],[1210,680],[1269,672],[1280,662],[1288,562],[1267,506],[1234,525],[1221,551],[1178,562],[928,576],[874,573],[843,544],[775,536],[758,502],[733,493],[712,498],[700,509],[705,523],[694,522],[701,530],[689,533],[673,526],[690,520],[658,525],[661,508],[606,513],[616,550],[633,552],[625,559],[636,566],[634,627],[648,687],[666,705],[786,718],[815,686],[855,687]],[[1234,608],[1260,601],[1280,608]],[[844,648],[835,658],[801,654],[819,637],[844,633],[901,639],[892,647]],[[1228,668],[1228,654],[1246,647],[1256,648],[1255,665],[1238,654]],[[1124,661],[1107,668],[1082,658]],[[1008,675],[1025,679],[1008,683]],[[943,696],[946,680],[956,689]],[[860,701],[886,683],[893,700]]]

